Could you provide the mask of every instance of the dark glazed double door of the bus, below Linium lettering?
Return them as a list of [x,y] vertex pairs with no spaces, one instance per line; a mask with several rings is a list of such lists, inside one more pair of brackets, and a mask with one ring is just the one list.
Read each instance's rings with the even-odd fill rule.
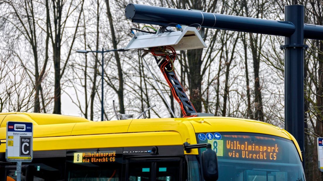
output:
[[183,158],[127,158],[126,181],[181,181]]

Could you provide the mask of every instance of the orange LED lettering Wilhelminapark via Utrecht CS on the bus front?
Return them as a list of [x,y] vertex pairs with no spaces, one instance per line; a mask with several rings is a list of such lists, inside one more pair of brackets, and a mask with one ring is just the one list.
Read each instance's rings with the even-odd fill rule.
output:
[[278,154],[278,146],[260,146],[248,144],[245,141],[243,144],[239,144],[239,141],[226,141],[226,148],[228,149],[229,157],[236,158],[249,158],[249,159],[261,159],[261,160],[276,160]]

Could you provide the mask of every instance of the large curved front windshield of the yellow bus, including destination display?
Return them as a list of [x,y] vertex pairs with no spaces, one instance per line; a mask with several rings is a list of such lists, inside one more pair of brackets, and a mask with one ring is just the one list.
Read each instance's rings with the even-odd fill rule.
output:
[[[297,149],[291,140],[256,133],[196,134],[199,143],[216,151],[219,181],[305,180]],[[200,149],[202,153],[205,148]]]

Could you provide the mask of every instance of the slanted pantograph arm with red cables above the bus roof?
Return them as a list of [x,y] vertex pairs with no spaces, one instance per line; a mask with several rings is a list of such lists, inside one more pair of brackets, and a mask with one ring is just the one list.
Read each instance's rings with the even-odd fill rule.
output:
[[[155,53],[155,51],[158,53]],[[179,103],[183,117],[197,116],[192,115],[192,113],[196,113],[196,110],[174,71],[173,64],[176,59],[175,49],[171,46],[153,47],[151,48],[151,54],[154,56],[168,86],[171,88],[173,97]],[[158,59],[157,56],[161,58]]]

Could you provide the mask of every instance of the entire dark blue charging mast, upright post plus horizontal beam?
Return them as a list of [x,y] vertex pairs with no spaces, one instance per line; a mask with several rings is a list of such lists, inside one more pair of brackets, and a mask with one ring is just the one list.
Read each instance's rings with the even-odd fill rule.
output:
[[204,28],[285,36],[281,46],[285,50],[285,129],[304,154],[304,38],[323,40],[323,26],[304,24],[303,5],[285,6],[285,21],[138,4],[128,4],[125,15],[134,23],[201,24]]

